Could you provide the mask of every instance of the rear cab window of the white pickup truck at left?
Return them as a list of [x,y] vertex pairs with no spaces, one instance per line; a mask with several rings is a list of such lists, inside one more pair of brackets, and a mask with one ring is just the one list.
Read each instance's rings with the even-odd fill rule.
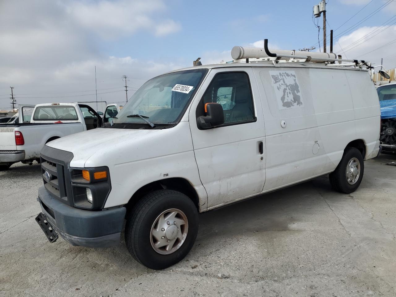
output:
[[78,120],[76,109],[67,105],[39,106],[33,115],[35,121]]

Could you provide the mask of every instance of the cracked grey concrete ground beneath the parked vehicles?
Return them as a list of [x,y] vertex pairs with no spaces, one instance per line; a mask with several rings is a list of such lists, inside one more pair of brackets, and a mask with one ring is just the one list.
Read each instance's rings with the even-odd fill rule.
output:
[[200,215],[188,256],[162,271],[107,249],[50,244],[34,217],[40,166],[0,172],[0,296],[395,296],[396,167],[360,188],[327,176]]

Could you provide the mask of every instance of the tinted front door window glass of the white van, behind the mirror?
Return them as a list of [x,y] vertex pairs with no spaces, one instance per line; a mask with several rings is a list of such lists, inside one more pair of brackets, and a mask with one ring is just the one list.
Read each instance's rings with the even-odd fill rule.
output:
[[246,72],[217,74],[202,98],[206,103],[219,103],[223,107],[224,124],[242,124],[255,120],[253,96]]

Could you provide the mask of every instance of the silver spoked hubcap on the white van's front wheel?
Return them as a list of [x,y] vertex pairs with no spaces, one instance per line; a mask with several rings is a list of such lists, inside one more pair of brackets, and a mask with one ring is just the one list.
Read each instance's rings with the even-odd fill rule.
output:
[[150,243],[154,251],[168,255],[177,251],[187,238],[188,219],[180,209],[163,211],[154,220],[150,230]]

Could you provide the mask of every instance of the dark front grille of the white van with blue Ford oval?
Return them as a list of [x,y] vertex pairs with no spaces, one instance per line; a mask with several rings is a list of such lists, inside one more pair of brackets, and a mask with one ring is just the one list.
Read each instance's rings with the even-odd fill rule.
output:
[[71,205],[67,199],[63,165],[41,157],[41,171],[46,190],[55,198]]

